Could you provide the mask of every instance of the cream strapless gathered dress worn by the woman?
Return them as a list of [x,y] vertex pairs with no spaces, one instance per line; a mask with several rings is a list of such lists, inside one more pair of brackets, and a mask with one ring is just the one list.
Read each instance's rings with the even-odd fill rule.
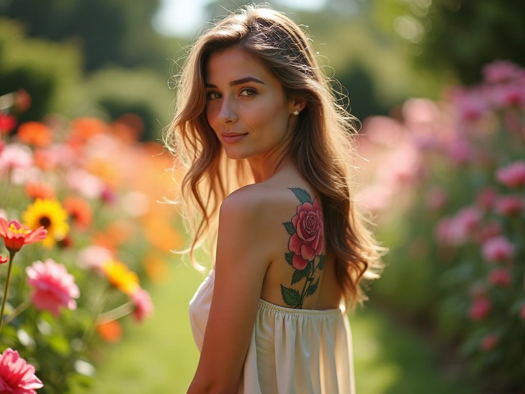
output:
[[[190,300],[199,351],[212,302],[212,269]],[[238,393],[355,394],[352,334],[344,306],[293,309],[259,298]]]

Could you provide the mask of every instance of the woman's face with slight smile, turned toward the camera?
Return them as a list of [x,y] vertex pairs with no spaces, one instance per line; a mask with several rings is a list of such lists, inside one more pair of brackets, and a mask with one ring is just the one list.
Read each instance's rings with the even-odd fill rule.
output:
[[229,158],[253,157],[285,143],[293,101],[286,101],[281,83],[258,59],[238,47],[215,52],[206,61],[204,81],[206,116]]

